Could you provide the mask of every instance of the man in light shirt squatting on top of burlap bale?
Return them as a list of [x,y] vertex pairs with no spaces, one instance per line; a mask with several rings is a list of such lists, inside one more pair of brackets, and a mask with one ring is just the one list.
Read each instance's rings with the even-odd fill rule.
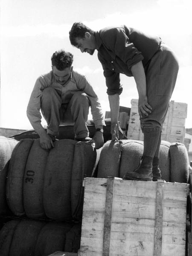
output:
[[[96,93],[85,76],[73,71],[70,52],[53,53],[51,62],[52,70],[37,79],[27,106],[27,116],[40,137],[41,147],[54,147],[62,121],[75,122],[75,140],[95,142],[96,148],[101,148],[105,121]],[[96,128],[93,139],[88,137],[86,126],[89,107]],[[40,109],[47,122],[47,132],[41,125]]]

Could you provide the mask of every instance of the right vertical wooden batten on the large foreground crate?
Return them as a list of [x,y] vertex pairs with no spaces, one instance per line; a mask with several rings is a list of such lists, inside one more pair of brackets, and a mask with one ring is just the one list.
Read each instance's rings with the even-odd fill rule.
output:
[[156,209],[155,209],[155,233],[154,256],[161,256],[163,241],[163,187],[164,180],[157,181]]

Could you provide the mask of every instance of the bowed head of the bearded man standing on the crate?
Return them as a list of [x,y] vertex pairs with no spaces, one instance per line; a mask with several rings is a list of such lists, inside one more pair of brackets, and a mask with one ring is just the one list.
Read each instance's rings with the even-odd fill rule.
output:
[[96,49],[95,32],[81,22],[73,23],[69,32],[70,42],[73,46],[93,55]]

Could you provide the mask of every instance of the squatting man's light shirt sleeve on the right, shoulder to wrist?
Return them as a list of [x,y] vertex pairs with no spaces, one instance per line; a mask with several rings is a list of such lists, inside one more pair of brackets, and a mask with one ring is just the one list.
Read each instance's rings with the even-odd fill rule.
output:
[[104,115],[99,99],[94,92],[93,87],[87,81],[85,76],[81,76],[81,79],[78,81],[77,87],[79,88],[79,90],[86,93],[90,100],[91,114],[93,116],[93,122],[95,124],[95,127],[97,128],[98,126],[105,125]]

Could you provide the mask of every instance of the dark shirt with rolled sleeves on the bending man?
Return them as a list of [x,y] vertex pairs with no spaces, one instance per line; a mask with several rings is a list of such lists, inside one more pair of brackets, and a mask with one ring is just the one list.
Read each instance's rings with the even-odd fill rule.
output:
[[125,25],[101,29],[95,33],[95,38],[109,95],[122,93],[119,73],[132,76],[131,67],[139,61],[143,62],[146,73],[161,44],[161,38]]

